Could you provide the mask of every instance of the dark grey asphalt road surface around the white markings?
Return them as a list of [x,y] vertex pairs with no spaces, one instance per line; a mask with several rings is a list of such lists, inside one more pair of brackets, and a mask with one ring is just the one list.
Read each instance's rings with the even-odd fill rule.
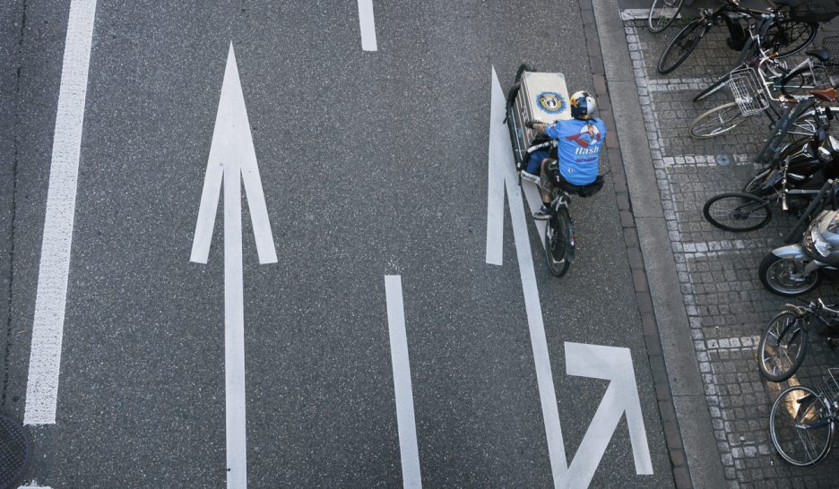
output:
[[[0,6],[2,408],[20,419],[70,4]],[[373,6],[365,51],[351,0],[96,4],[55,423],[28,427],[27,481],[226,484],[223,198],[208,262],[190,253],[232,43],[277,254],[259,263],[243,193],[247,483],[410,482],[385,288],[399,276],[421,483],[552,485],[508,210],[503,264],[485,261],[491,73],[506,90],[527,62],[592,90],[595,33],[575,2]],[[528,219],[567,463],[594,457],[576,452],[610,382],[568,375],[566,342],[624,347],[653,474],[622,417],[594,427],[611,439],[591,485],[672,485],[611,184],[572,213],[563,279]]]

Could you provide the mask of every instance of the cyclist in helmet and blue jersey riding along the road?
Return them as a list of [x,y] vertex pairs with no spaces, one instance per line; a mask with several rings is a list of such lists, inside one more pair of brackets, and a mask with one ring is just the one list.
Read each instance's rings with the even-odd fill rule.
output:
[[[545,124],[527,121],[524,125],[558,141],[558,160],[545,158],[547,152],[533,153],[531,161],[542,158],[540,172],[541,209],[533,212],[533,219],[548,219],[554,214],[550,208],[551,190],[554,185],[576,193],[582,187],[595,184],[600,169],[600,149],[606,141],[606,124],[597,118],[597,102],[587,91],[571,96],[571,119]],[[537,156],[538,155],[538,156]],[[538,159],[536,160],[538,161]],[[528,165],[528,170],[535,169]]]

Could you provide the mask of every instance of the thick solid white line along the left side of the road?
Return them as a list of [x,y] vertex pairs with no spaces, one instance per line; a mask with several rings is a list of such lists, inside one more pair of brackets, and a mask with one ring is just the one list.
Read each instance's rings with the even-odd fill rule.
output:
[[84,101],[87,96],[95,14],[96,0],[73,0],[70,4],[52,163],[49,168],[35,318],[32,324],[26,409],[23,415],[23,423],[26,425],[56,423],[67,278],[70,273]]

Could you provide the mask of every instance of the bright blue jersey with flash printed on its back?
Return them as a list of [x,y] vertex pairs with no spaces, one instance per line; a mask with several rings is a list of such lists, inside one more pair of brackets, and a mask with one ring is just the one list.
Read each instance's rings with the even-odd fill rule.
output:
[[568,183],[587,185],[597,178],[600,149],[606,141],[603,121],[597,118],[557,121],[545,128],[545,134],[559,142],[559,173]]

